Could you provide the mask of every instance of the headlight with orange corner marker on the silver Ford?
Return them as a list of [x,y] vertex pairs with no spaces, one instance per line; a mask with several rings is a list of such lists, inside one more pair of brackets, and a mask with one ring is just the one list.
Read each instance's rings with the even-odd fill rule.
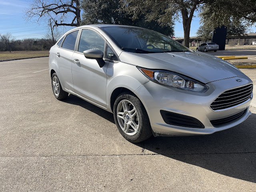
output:
[[188,77],[175,74],[173,72],[163,70],[150,70],[140,67],[138,67],[138,69],[150,80],[165,86],[201,93],[206,92],[206,90],[209,88],[208,86],[197,82],[196,80],[192,80]]

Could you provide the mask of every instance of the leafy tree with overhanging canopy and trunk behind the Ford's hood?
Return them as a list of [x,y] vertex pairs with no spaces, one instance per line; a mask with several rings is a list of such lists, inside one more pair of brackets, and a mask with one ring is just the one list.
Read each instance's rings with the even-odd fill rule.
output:
[[[256,0],[125,0],[129,11],[138,18],[140,12],[147,20],[168,22],[170,18],[180,20],[184,30],[184,45],[189,46],[191,21],[195,11],[200,12],[201,22],[208,28],[226,25],[230,21],[239,26],[241,20],[249,25],[256,22]],[[148,11],[150,10],[151,11]],[[157,18],[158,17],[158,18]],[[206,33],[207,34],[207,33]]]

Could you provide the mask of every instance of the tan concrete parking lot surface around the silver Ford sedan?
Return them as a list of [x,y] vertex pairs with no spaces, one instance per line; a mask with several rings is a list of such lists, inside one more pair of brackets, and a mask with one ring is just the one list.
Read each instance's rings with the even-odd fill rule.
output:
[[47,68],[48,58],[0,63],[1,192],[256,190],[256,108],[212,135],[132,144],[111,113],[56,100]]

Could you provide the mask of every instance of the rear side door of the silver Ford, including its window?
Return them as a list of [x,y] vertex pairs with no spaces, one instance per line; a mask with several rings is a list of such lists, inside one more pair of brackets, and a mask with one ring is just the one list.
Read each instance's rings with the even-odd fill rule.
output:
[[56,69],[60,82],[67,90],[74,91],[72,79],[72,55],[79,30],[75,30],[66,35],[62,44],[59,44],[56,51]]

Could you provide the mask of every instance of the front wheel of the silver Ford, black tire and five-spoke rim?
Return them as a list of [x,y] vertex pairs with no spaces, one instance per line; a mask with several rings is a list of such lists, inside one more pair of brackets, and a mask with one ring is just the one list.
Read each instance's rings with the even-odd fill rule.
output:
[[130,93],[122,93],[116,98],[114,120],[120,134],[129,142],[142,142],[152,135],[146,109],[142,102]]

